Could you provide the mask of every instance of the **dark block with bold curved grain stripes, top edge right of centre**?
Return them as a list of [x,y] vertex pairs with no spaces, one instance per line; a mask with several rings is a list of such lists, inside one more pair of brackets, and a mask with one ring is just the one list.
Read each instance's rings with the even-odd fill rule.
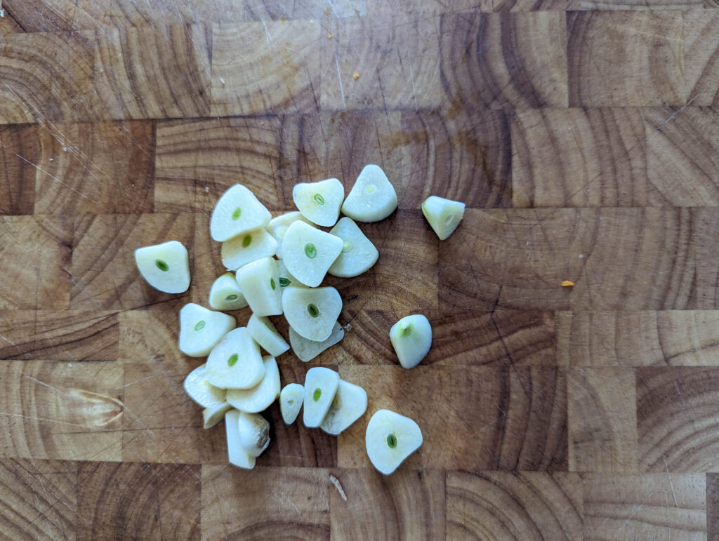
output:
[[563,13],[448,14],[439,34],[444,108],[567,106]]

